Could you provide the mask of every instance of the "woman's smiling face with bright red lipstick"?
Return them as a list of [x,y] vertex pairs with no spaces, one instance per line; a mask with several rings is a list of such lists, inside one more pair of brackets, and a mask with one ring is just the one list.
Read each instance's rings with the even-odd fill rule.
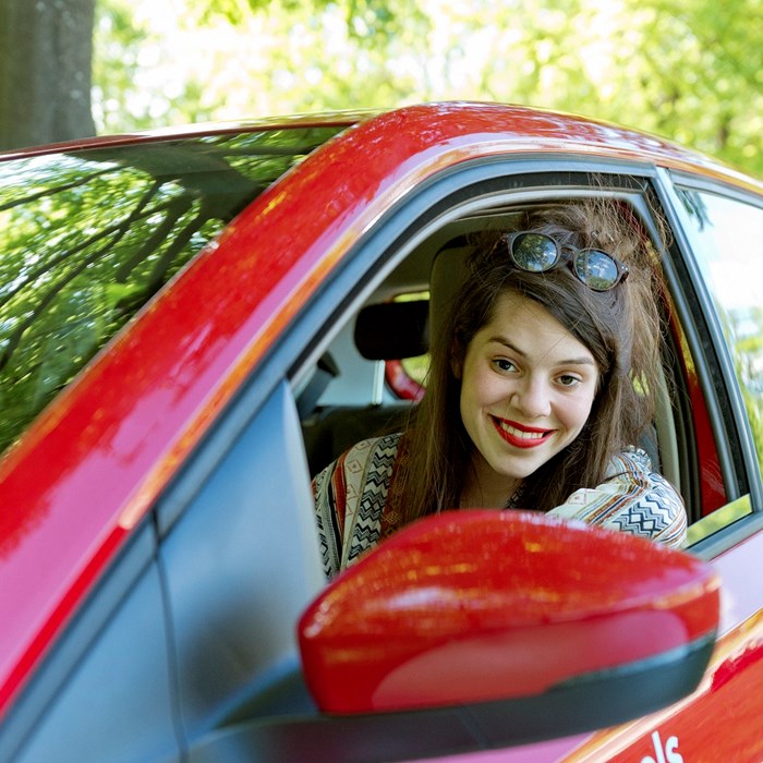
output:
[[456,372],[483,497],[505,488],[504,500],[580,434],[598,382],[591,351],[545,307],[514,293],[498,298]]

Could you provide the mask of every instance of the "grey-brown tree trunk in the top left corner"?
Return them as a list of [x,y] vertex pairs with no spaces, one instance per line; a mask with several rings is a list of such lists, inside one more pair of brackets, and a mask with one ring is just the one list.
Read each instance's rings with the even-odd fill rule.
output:
[[96,0],[0,0],[0,150],[95,134]]

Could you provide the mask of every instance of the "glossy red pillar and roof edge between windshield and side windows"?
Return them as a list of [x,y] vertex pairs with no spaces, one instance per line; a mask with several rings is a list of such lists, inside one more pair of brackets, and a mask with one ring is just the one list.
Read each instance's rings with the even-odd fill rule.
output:
[[434,172],[528,150],[654,161],[746,182],[646,135],[493,105],[412,107],[329,142],[246,209],[0,463],[0,712],[359,235]]

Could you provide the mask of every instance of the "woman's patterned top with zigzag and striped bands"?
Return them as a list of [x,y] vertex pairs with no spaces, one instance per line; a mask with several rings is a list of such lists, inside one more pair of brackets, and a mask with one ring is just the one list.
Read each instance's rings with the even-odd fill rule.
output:
[[[328,578],[399,528],[387,495],[400,434],[363,440],[313,480],[324,571]],[[687,513],[676,489],[652,471],[643,450],[616,456],[606,481],[576,491],[548,513],[680,546]]]

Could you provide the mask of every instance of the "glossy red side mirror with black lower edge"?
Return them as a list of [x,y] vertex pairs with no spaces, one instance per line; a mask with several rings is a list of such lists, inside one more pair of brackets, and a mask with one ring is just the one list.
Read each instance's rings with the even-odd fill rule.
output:
[[717,577],[686,553],[544,514],[452,511],[338,576],[302,616],[299,639],[323,711],[469,704],[506,743],[601,728],[686,697],[718,616]]

